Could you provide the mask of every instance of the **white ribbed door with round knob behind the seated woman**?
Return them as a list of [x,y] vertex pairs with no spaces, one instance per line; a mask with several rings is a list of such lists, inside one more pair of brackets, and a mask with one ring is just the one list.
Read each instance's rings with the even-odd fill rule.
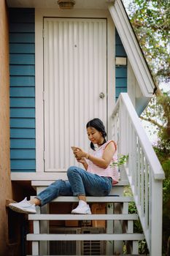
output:
[[107,20],[45,18],[45,171],[77,165],[91,118],[107,125]]

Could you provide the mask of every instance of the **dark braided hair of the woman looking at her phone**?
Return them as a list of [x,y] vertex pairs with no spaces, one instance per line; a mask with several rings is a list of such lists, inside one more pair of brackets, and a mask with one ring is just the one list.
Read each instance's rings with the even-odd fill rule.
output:
[[[101,119],[99,118],[93,118],[92,120],[88,121],[88,124],[86,124],[86,129],[88,127],[93,127],[95,128],[98,132],[101,132],[102,137],[104,138],[104,142],[101,144],[103,145],[104,143],[107,142],[107,140],[105,139],[105,137],[107,136],[107,132],[106,129],[104,127],[104,123],[101,121]],[[93,150],[95,150],[94,148],[94,144],[91,142],[90,143],[90,148],[92,148]]]

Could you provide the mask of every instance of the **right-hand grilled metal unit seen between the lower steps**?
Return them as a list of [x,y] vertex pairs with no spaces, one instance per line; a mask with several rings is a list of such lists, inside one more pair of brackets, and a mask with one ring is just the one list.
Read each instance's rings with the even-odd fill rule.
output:
[[[104,228],[82,227],[82,233],[104,233]],[[104,255],[104,241],[82,241],[81,255]]]

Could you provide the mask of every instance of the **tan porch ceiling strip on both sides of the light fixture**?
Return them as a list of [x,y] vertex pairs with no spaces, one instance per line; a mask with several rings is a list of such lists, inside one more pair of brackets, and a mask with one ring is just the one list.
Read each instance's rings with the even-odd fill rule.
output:
[[[74,9],[107,9],[115,0],[75,0]],[[57,8],[58,0],[7,0],[8,7]]]

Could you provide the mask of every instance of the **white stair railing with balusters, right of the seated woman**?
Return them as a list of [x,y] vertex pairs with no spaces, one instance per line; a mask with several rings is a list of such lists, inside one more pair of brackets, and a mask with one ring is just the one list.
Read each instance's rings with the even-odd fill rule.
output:
[[151,256],[162,255],[163,169],[127,93],[121,93],[112,113],[112,138],[118,154],[128,154],[123,165]]

